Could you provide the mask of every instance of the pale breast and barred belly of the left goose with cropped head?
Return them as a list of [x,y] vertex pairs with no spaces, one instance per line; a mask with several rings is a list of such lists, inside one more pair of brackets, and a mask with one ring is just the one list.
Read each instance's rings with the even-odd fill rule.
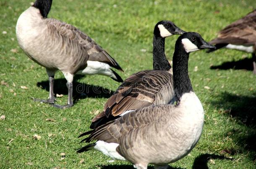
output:
[[16,36],[26,55],[45,68],[76,73],[86,66],[88,57],[79,45],[47,26],[37,8],[30,7],[20,15]]

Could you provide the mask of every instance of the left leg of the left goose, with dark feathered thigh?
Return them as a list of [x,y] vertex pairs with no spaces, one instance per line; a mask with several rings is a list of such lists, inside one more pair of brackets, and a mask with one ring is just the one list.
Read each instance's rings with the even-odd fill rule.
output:
[[54,97],[54,93],[53,93],[53,84],[54,84],[54,74],[55,71],[49,71],[47,70],[47,74],[49,76],[49,98],[47,100],[43,100],[43,99],[39,99],[39,98],[33,98],[34,101],[39,101],[42,103],[50,103],[50,104],[54,104],[55,102],[55,97]]

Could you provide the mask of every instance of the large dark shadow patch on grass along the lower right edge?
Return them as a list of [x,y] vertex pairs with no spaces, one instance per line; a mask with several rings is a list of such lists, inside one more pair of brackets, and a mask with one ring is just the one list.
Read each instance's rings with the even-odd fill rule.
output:
[[[253,97],[254,96],[254,97]],[[236,140],[241,147],[240,150],[225,149],[223,153],[236,154],[239,151],[248,150],[251,152],[251,158],[255,160],[256,155],[256,93],[253,96],[236,96],[231,93],[223,92],[220,94],[217,101],[212,101],[212,104],[217,108],[223,108],[227,115],[232,117],[232,121],[240,123],[247,127],[247,131],[240,134],[239,129],[230,129],[227,136]]]

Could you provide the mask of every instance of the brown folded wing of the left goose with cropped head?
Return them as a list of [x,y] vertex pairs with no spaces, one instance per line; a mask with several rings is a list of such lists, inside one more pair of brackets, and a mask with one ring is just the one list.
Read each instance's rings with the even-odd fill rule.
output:
[[62,36],[67,36],[80,45],[80,48],[85,50],[89,61],[100,61],[109,64],[113,68],[120,71],[123,69],[118,65],[114,58],[112,58],[101,46],[97,45],[88,35],[78,30],[76,27],[55,19],[47,19],[49,25],[54,26],[60,31]]

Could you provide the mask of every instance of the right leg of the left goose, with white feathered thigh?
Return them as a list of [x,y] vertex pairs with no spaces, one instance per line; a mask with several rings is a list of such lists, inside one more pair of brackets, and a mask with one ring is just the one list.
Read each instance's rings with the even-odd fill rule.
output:
[[73,106],[73,75],[71,73],[63,73],[65,78],[67,79],[67,88],[68,88],[68,102],[66,105],[58,105],[58,104],[53,104],[52,106],[56,107],[56,108],[69,108]]

